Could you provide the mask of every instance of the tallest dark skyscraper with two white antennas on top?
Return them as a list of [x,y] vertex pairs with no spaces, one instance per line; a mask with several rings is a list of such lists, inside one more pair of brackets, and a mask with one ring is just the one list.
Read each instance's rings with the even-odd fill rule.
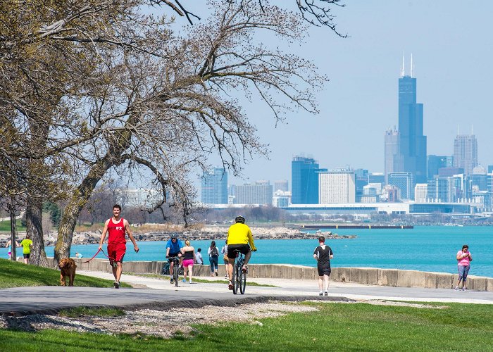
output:
[[[414,182],[426,182],[426,136],[423,135],[423,104],[416,103],[416,78],[413,77],[413,56],[411,75],[404,72],[402,58],[399,78],[399,152],[403,172],[411,172]],[[414,187],[414,186],[413,186]]]

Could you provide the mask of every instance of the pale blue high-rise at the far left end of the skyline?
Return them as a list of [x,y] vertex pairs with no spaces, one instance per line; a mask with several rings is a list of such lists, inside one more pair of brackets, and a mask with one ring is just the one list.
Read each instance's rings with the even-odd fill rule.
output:
[[206,204],[227,204],[227,172],[214,168],[201,177],[201,201]]

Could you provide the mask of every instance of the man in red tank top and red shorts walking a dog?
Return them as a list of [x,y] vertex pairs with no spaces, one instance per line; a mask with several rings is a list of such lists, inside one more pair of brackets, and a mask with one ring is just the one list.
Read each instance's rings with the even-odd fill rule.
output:
[[120,218],[120,213],[122,207],[118,204],[113,206],[113,218],[106,220],[104,223],[103,233],[101,234],[101,240],[99,241],[99,251],[103,246],[104,238],[106,237],[106,232],[108,232],[108,257],[110,258],[111,268],[113,269],[113,276],[115,277],[115,282],[113,286],[116,289],[120,288],[120,276],[122,276],[123,267],[123,256],[125,256],[125,251],[127,250],[127,239],[125,239],[125,232],[128,234],[128,238],[134,244],[135,253],[139,251],[137,243],[132,236],[132,231],[130,230],[130,225],[128,221],[124,218]]

